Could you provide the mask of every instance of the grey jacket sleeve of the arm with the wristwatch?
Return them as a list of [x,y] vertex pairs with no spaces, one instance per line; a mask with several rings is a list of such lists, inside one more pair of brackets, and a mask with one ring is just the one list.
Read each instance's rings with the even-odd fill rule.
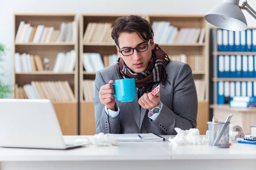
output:
[[183,64],[177,74],[173,88],[172,110],[163,104],[159,116],[153,122],[168,135],[177,134],[174,130],[196,128],[198,98],[192,70]]

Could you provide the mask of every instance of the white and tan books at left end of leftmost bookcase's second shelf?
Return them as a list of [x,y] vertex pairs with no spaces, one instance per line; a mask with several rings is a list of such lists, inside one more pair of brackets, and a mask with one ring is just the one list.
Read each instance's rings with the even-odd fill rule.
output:
[[39,55],[15,53],[15,72],[44,71],[44,66]]

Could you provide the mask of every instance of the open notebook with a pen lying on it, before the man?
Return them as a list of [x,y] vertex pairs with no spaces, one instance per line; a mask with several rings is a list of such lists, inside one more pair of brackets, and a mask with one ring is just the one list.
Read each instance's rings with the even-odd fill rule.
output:
[[155,142],[164,141],[165,139],[154,133],[127,133],[112,134],[119,142]]

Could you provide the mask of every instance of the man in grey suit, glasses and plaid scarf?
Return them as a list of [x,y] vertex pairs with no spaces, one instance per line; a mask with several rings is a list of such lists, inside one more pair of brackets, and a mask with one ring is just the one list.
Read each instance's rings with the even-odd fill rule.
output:
[[[96,133],[177,134],[174,130],[196,127],[198,99],[192,70],[172,61],[154,43],[147,20],[130,15],[116,20],[111,32],[119,59],[96,73]],[[119,102],[112,95],[116,79],[134,78],[137,98]],[[151,92],[160,85],[160,92]]]

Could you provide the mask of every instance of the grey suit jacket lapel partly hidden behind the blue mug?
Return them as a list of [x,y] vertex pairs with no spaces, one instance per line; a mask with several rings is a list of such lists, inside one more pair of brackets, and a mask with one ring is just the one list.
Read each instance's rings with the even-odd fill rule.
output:
[[[122,79],[117,69],[116,69],[116,74],[118,79]],[[139,105],[138,95],[136,95],[136,99],[134,101],[128,102],[128,105],[131,109],[131,113],[134,116],[137,126],[140,127],[140,105]]]

